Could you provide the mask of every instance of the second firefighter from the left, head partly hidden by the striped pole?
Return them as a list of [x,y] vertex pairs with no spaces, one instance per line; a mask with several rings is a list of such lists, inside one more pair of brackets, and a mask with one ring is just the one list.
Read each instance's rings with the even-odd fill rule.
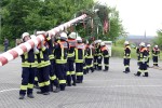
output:
[[38,81],[40,91],[37,94],[50,95],[50,59],[49,59],[49,44],[45,31],[37,31],[37,35],[42,35],[44,40],[38,44]]

